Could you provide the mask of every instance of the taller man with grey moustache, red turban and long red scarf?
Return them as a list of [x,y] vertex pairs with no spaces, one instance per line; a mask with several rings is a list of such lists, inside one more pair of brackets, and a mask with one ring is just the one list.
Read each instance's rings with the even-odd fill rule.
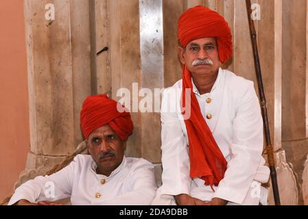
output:
[[257,94],[252,81],[221,68],[233,53],[228,23],[190,8],[178,19],[178,42],[182,79],[163,93],[163,185],[153,204],[266,204]]

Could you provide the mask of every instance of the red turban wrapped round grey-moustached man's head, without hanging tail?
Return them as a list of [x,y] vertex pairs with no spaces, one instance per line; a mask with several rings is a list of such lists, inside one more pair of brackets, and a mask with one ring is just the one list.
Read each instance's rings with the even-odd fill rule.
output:
[[178,19],[178,41],[182,48],[200,38],[217,38],[220,62],[226,62],[233,53],[232,34],[228,23],[217,12],[196,6]]

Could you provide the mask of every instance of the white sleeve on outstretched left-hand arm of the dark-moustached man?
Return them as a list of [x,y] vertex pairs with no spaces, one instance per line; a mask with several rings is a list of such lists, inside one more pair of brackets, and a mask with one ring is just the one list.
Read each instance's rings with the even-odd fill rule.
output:
[[57,201],[71,196],[75,159],[69,166],[50,176],[38,176],[16,188],[8,205],[21,199],[31,203]]

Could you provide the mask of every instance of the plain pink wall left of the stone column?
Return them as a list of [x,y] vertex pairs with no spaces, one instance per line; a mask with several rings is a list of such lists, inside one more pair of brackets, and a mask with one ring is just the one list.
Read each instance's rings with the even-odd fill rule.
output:
[[0,1],[0,200],[8,196],[29,151],[23,0]]

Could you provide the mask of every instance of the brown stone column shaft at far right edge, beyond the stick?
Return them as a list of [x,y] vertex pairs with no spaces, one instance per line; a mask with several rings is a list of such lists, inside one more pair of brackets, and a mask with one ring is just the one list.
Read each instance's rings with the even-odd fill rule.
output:
[[[283,136],[284,140],[306,137],[306,1],[283,1]],[[296,23],[296,25],[294,25]],[[290,104],[291,103],[291,104]]]

